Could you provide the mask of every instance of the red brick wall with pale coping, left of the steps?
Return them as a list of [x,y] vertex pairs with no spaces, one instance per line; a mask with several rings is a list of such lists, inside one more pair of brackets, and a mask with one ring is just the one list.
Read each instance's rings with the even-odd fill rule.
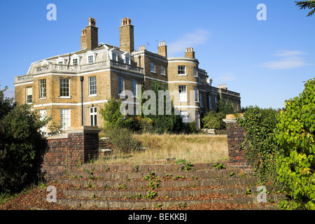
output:
[[66,134],[43,139],[41,177],[55,179],[96,157],[98,132],[96,127],[72,127]]

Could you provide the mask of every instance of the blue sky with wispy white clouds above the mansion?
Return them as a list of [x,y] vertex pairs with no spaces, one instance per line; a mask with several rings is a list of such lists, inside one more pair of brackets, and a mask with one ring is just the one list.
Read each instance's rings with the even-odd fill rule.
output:
[[[46,6],[57,6],[57,20]],[[267,20],[256,15],[264,3]],[[315,78],[315,15],[290,0],[224,1],[0,1],[0,87],[14,97],[14,77],[31,62],[80,50],[81,29],[96,19],[99,43],[119,46],[120,20],[132,19],[134,45],[169,57],[193,47],[213,85],[241,93],[241,106],[281,108]]]

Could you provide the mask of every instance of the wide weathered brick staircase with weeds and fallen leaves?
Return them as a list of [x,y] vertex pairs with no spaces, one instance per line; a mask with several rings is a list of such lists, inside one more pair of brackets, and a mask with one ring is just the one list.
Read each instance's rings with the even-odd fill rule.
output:
[[[235,209],[276,209],[281,195],[267,190],[259,204],[257,179],[243,169],[214,163],[183,165],[85,164],[59,179],[57,204],[74,209],[202,209],[205,204],[232,204]],[[193,169],[191,169],[193,168]]]

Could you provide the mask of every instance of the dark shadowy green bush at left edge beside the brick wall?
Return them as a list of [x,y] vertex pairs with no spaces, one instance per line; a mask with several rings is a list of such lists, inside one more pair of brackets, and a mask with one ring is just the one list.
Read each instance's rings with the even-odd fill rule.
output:
[[[1,97],[0,102],[3,102]],[[18,190],[31,172],[36,172],[36,160],[41,155],[38,130],[46,122],[31,113],[27,104],[15,106],[3,114],[0,120],[0,192]]]

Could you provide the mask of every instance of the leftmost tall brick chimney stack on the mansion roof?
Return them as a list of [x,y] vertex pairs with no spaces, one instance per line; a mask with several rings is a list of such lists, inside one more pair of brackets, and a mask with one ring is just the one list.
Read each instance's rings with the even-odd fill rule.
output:
[[99,45],[99,38],[98,38],[98,29],[95,27],[96,21],[94,18],[89,17],[89,25],[82,29],[82,36],[81,38],[81,50],[87,48],[87,50],[93,50],[97,48]]

